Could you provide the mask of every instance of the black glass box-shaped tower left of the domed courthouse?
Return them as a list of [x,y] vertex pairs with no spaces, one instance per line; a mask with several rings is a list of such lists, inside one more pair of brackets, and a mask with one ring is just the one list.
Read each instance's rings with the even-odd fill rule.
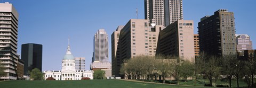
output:
[[24,75],[34,68],[42,71],[42,50],[43,45],[36,43],[26,43],[21,45],[21,59],[24,61]]

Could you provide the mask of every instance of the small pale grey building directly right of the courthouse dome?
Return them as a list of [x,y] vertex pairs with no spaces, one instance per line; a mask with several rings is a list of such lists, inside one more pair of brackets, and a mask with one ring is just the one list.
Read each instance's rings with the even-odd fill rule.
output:
[[75,58],[75,67],[76,67],[76,71],[85,71],[85,58],[84,57],[76,57]]

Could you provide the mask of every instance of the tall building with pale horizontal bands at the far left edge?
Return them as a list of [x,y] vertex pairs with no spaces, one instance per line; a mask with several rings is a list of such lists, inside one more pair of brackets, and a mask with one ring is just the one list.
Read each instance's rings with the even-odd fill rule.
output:
[[0,80],[17,80],[19,14],[8,2],[0,3],[0,60],[5,75]]

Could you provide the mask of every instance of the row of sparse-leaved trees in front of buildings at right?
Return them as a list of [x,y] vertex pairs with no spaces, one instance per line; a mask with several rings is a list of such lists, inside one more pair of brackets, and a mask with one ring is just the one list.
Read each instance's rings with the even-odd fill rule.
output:
[[[136,80],[163,80],[166,77],[180,80],[188,78],[197,80],[204,76],[210,82],[210,86],[217,86],[217,80],[227,80],[231,87],[231,80],[243,80],[248,86],[254,87],[256,74],[255,56],[253,59],[240,60],[236,55],[224,57],[212,56],[201,53],[195,60],[186,60],[177,56],[136,56],[125,59],[121,65],[120,74],[127,79]],[[197,82],[197,81],[195,81]],[[213,85],[215,83],[215,85]]]

